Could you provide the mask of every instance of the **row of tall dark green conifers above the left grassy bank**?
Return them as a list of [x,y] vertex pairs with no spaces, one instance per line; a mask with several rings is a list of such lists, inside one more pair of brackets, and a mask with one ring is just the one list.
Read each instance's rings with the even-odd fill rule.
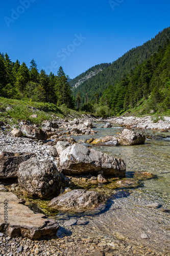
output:
[[62,67],[57,75],[52,72],[47,75],[44,70],[39,73],[34,59],[28,68],[25,62],[20,65],[18,59],[12,62],[7,53],[0,53],[0,96],[75,107],[68,76]]

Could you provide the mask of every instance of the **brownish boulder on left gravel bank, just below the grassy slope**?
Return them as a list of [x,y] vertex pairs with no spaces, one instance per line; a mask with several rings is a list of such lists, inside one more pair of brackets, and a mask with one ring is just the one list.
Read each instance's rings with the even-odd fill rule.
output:
[[31,125],[22,125],[21,131],[28,138],[37,139],[37,140],[46,140],[47,134],[43,132],[41,129],[31,126]]

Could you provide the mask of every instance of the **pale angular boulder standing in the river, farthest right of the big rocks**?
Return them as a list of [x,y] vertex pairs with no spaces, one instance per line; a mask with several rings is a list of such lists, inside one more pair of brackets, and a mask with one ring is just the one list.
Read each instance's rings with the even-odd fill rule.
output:
[[120,137],[118,138],[118,142],[120,145],[139,145],[144,144],[145,136],[143,134],[139,134],[133,132],[128,129],[124,129]]

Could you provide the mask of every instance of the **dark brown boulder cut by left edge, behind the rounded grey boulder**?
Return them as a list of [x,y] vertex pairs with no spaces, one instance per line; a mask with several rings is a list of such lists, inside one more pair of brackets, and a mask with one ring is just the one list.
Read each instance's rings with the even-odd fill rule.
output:
[[33,156],[33,153],[0,152],[0,178],[17,178],[19,164]]

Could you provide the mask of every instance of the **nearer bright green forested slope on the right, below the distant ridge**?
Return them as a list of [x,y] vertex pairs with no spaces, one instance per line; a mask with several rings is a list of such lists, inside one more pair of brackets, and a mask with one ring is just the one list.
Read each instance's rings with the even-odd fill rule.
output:
[[128,109],[139,107],[144,102],[141,114],[151,110],[159,113],[170,110],[170,41],[159,46],[158,53],[152,54],[134,70],[124,74],[114,86],[102,94],[100,103],[108,105],[112,114],[121,114]]

